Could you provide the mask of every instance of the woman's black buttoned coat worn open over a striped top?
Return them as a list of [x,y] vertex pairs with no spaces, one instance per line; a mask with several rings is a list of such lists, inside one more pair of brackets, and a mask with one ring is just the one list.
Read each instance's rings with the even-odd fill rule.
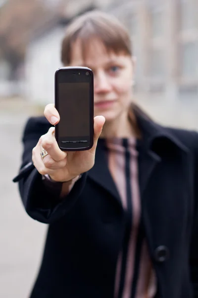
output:
[[[143,133],[139,154],[142,222],[160,298],[198,298],[198,134],[165,128],[136,113]],[[23,164],[50,125],[31,118]],[[108,171],[103,141],[94,167],[62,201],[47,193],[32,168],[19,181],[27,213],[49,224],[31,298],[113,298],[126,218]]]

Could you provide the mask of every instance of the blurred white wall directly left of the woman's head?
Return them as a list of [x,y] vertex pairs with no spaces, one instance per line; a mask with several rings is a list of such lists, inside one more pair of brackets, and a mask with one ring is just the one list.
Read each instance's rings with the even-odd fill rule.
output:
[[63,33],[62,27],[56,27],[29,44],[25,63],[28,100],[42,105],[54,101],[54,73],[61,67]]

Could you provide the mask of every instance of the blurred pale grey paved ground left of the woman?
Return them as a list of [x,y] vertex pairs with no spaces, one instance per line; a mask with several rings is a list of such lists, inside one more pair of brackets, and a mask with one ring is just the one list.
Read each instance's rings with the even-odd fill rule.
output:
[[23,101],[0,100],[0,106],[0,298],[28,298],[47,226],[28,217],[11,180],[20,163],[22,127],[36,111]]

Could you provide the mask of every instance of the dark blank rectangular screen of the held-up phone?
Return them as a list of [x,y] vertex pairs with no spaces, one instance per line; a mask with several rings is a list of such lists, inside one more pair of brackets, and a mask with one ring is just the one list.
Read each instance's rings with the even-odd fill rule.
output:
[[59,137],[90,135],[90,83],[58,83]]

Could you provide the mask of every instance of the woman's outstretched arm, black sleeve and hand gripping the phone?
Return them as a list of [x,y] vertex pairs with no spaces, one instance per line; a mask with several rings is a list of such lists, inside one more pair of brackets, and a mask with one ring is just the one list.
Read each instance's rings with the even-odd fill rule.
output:
[[[103,116],[94,118],[94,144],[91,149],[64,152],[55,140],[54,127],[49,125],[56,125],[60,120],[54,104],[46,106],[44,115],[48,121],[44,117],[40,118],[40,121],[38,118],[30,118],[26,125],[22,167],[31,161],[34,165],[20,176],[19,190],[27,213],[35,220],[50,224],[63,217],[81,195],[87,171],[94,166],[97,143],[105,119]],[[48,152],[43,160],[40,156],[42,149]],[[42,179],[46,174],[60,183],[61,187],[57,192],[52,192],[46,187]],[[82,177],[72,185],[68,193],[68,188],[65,189],[66,184],[61,184],[61,181],[68,182],[80,174]]]

